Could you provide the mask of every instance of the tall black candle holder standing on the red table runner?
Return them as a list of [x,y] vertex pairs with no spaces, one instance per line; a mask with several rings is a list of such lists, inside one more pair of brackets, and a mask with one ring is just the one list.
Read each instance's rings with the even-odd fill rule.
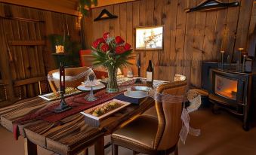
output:
[[66,55],[65,53],[53,53],[54,56],[58,56],[58,60],[60,61],[60,106],[54,109],[55,113],[61,113],[63,111],[68,111],[72,107],[66,104],[65,102],[65,68],[63,65],[63,57]]

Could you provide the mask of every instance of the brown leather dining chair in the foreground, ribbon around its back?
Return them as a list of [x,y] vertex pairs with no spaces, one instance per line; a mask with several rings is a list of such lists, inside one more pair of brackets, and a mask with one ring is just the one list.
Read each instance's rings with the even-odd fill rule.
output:
[[[171,95],[185,95],[187,81],[177,81],[162,84],[157,88],[157,93]],[[174,151],[178,154],[177,142],[181,129],[182,102],[155,103],[157,117],[140,115],[116,130],[111,135],[113,155],[118,154],[118,146],[134,150],[136,153],[168,154]]]

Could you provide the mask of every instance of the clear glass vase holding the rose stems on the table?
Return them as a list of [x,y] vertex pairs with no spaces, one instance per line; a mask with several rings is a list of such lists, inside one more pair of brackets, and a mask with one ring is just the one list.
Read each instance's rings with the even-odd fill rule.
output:
[[109,75],[109,81],[106,86],[106,92],[107,93],[117,93],[119,92],[118,86],[117,86],[117,68],[116,66],[109,66],[107,68],[108,75]]

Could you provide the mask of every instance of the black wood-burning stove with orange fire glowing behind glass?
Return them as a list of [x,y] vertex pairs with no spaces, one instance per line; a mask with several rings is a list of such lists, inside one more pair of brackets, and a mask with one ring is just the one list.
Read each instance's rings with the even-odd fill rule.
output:
[[248,130],[251,107],[252,74],[211,68],[209,99],[214,107],[226,108],[243,118],[243,129]]

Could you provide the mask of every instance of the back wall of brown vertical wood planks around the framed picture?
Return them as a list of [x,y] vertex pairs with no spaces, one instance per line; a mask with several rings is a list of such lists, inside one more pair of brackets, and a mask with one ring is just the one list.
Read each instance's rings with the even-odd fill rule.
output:
[[[219,11],[185,13],[204,0],[140,0],[110,5],[92,10],[91,18],[84,20],[89,48],[103,32],[120,35],[134,48],[134,28],[137,26],[164,26],[164,50],[140,52],[141,75],[145,76],[148,60],[155,66],[155,78],[172,81],[174,74],[184,74],[190,86],[201,86],[201,62],[219,61],[220,51],[236,56],[239,47],[248,47],[248,28],[251,22],[253,0],[221,0],[240,2],[241,6]],[[106,8],[119,18],[93,22]],[[91,24],[91,26],[90,26]],[[133,66],[136,73],[136,66]]]

